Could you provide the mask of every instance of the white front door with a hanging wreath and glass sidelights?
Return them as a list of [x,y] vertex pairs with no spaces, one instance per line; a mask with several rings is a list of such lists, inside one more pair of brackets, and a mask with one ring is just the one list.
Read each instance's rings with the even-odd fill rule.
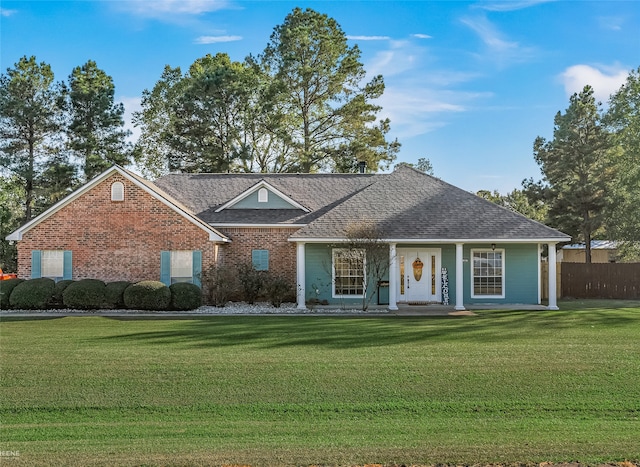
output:
[[407,303],[441,302],[440,250],[398,249],[399,297]]

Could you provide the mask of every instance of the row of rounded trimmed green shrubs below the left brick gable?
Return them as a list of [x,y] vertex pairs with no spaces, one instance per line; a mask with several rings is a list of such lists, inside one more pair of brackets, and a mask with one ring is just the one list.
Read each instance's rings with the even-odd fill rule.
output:
[[97,279],[79,281],[51,279],[10,279],[0,281],[0,309],[44,310],[73,308],[79,310],[193,310],[202,304],[197,285],[142,281],[105,284]]

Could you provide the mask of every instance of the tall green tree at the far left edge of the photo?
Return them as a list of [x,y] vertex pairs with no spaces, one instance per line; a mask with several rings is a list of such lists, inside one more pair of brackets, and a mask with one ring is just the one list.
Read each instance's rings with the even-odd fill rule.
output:
[[22,57],[0,77],[0,163],[24,196],[23,220],[34,215],[39,178],[61,131],[59,87],[51,67]]

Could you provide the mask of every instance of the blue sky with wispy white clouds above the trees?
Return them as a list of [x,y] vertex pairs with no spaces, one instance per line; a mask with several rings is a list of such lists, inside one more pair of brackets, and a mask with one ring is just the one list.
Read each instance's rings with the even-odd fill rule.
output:
[[95,60],[129,115],[165,65],[257,55],[296,6],[335,18],[369,77],[384,76],[380,116],[402,143],[398,162],[427,157],[469,191],[538,179],[533,141],[552,137],[569,96],[590,84],[606,103],[640,66],[635,0],[2,0],[0,66],[35,55],[66,80]]

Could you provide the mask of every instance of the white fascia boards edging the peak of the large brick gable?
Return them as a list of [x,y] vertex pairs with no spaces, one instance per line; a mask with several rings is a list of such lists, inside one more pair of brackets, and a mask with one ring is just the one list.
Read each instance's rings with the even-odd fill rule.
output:
[[18,230],[16,230],[15,232],[12,232],[11,234],[9,234],[6,237],[6,239],[7,240],[13,240],[13,241],[22,240],[22,236],[23,236],[23,234],[25,232],[29,231],[31,228],[33,228],[34,226],[38,225],[43,220],[51,217],[53,214],[55,214],[56,212],[58,212],[59,210],[61,210],[65,206],[67,206],[68,204],[70,204],[75,199],[79,198],[80,196],[82,196],[86,192],[88,192],[91,189],[93,189],[93,187],[95,187],[97,184],[99,184],[99,183],[103,182],[104,180],[106,180],[114,172],[119,173],[124,178],[129,180],[131,183],[136,185],[138,188],[141,188],[146,193],[151,195],[153,198],[157,199],[158,201],[160,201],[161,203],[163,203],[167,207],[171,208],[173,211],[175,211],[177,214],[179,214],[182,217],[184,217],[185,219],[187,219],[192,224],[194,224],[197,227],[200,227],[201,229],[205,230],[209,234],[209,241],[217,242],[217,243],[229,243],[231,241],[230,239],[222,236],[219,232],[217,232],[214,229],[212,229],[208,224],[206,224],[206,223],[200,221],[199,219],[195,218],[194,216],[186,213],[184,210],[180,209],[178,206],[176,206],[175,204],[171,203],[169,200],[164,198],[159,193],[151,190],[145,184],[143,184],[140,181],[138,181],[135,177],[132,177],[131,175],[129,175],[129,173],[127,173],[125,170],[121,169],[117,165],[105,170],[100,175],[95,177],[93,180],[88,182],[86,185],[78,188],[76,191],[74,191],[73,193],[69,194],[67,197],[65,197],[62,200],[58,201],[56,204],[51,206],[45,212],[40,214],[38,217],[33,218],[31,221],[27,222],[25,225],[20,227]]

